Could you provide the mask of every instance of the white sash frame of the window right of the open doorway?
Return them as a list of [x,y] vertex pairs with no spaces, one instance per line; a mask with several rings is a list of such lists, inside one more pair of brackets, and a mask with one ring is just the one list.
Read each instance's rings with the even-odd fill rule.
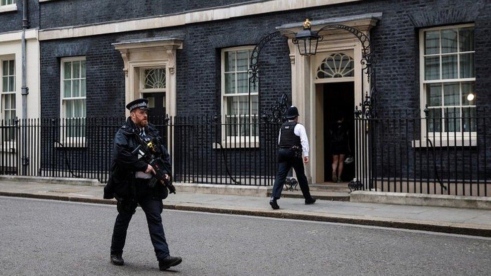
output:
[[[419,55],[420,55],[420,111],[421,111],[421,118],[425,118],[425,105],[427,104],[427,95],[426,95],[426,84],[429,83],[446,83],[446,82],[466,82],[466,81],[473,81],[475,83],[475,76],[471,78],[453,78],[453,79],[442,79],[442,62],[440,59],[440,79],[437,80],[425,80],[425,56],[442,56],[442,55],[447,55],[447,53],[442,54],[428,54],[425,55],[425,32],[427,31],[436,31],[436,30],[447,30],[447,29],[459,29],[459,28],[468,28],[468,27],[474,27],[474,24],[456,24],[456,25],[451,25],[451,26],[444,26],[444,27],[432,27],[432,28],[425,28],[421,29],[419,31]],[[457,45],[458,43],[459,36],[457,35]],[[475,40],[474,40],[475,41]],[[441,47],[441,39],[440,39],[440,47]],[[458,47],[458,46],[457,46]],[[475,48],[474,51],[468,51],[468,52],[459,52],[460,49],[457,48],[457,72],[460,74],[460,54],[465,54],[465,53],[474,53],[475,54]],[[451,55],[456,54],[456,53],[449,53]],[[475,55],[474,55],[474,66],[475,66]],[[474,85],[475,87],[475,85]],[[442,101],[443,101],[443,89],[442,89]],[[459,95],[460,97],[460,95]],[[459,99],[461,100],[461,99]],[[443,105],[443,102],[442,102]],[[448,106],[447,108],[452,108],[454,106]],[[467,106],[455,106],[455,107],[467,107]],[[473,106],[469,106],[473,107]],[[461,114],[462,116],[462,114]],[[429,119],[428,119],[429,120]],[[460,128],[462,128],[462,123],[460,123]],[[430,146],[430,143],[427,141],[427,139],[430,139],[433,143],[433,146],[475,146],[477,144],[477,132],[468,132],[462,131],[459,132],[446,132],[445,131],[435,131],[435,132],[428,132],[428,137],[426,136],[427,132],[427,124],[426,120],[422,119],[421,120],[421,141],[413,141],[413,146],[414,147],[428,147]],[[435,135],[434,135],[435,134]],[[447,138],[448,136],[448,138]],[[441,137],[441,138],[440,138]]]

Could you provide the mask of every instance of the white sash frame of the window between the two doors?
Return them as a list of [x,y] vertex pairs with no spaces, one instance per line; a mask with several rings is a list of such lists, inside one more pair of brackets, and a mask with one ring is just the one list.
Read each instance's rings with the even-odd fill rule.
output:
[[[224,144],[224,148],[233,148],[233,147],[259,147],[259,127],[257,129],[257,134],[256,136],[251,136],[251,135],[246,135],[246,136],[230,136],[227,135],[225,136],[225,122],[226,122],[226,98],[227,97],[239,97],[239,96],[246,96],[249,97],[249,93],[234,93],[234,94],[225,94],[225,53],[230,52],[230,51],[240,51],[240,50],[253,50],[255,46],[239,46],[239,47],[231,47],[231,48],[224,48],[221,50],[221,66],[220,66],[220,78],[221,78],[221,95],[220,95],[220,102],[221,102],[221,123],[222,123],[222,131],[221,131],[221,139],[222,139],[222,144]],[[248,56],[248,69],[249,65],[251,64],[250,61],[251,57]],[[236,72],[236,70],[235,70]],[[249,75],[248,75],[249,78]],[[237,85],[237,82],[235,82],[235,87]],[[251,85],[249,83],[249,85]],[[257,96],[258,97],[258,111],[259,111],[259,91],[255,93],[251,93],[251,96]],[[252,113],[252,106],[250,107],[250,113]],[[247,115],[248,117],[249,115]],[[259,123],[259,114],[257,115],[252,115],[253,117],[257,117],[257,121]],[[252,126],[250,133],[252,133]],[[215,148],[220,148],[219,145],[214,145]]]

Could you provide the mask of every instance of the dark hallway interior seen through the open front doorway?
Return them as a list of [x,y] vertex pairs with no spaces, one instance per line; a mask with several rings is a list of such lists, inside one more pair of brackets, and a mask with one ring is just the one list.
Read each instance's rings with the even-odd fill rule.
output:
[[[354,82],[334,82],[323,85],[323,110],[324,110],[324,181],[331,182],[333,173],[333,152],[331,147],[331,130],[339,118],[344,118],[344,123],[349,133],[349,148],[354,154],[355,148],[355,87]],[[346,154],[347,156],[348,154]],[[355,164],[344,164],[342,180],[350,181],[355,176]]]

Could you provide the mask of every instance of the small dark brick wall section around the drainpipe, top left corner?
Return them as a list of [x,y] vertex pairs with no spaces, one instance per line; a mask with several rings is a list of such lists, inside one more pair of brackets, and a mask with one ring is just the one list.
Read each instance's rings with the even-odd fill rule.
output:
[[[39,0],[29,0],[29,20],[31,28],[39,27]],[[17,0],[17,11],[0,13],[0,33],[22,30],[22,0]]]

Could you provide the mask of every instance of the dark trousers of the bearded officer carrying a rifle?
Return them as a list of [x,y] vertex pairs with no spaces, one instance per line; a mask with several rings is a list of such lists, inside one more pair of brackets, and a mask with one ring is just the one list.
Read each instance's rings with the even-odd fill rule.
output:
[[166,235],[163,232],[162,213],[163,205],[161,200],[155,200],[152,191],[147,185],[148,180],[138,180],[136,183],[136,202],[118,201],[118,216],[114,223],[113,238],[111,241],[111,254],[122,254],[126,241],[126,231],[131,217],[135,213],[137,203],[145,212],[148,231],[152,241],[153,249],[157,259],[169,256],[169,246]]

